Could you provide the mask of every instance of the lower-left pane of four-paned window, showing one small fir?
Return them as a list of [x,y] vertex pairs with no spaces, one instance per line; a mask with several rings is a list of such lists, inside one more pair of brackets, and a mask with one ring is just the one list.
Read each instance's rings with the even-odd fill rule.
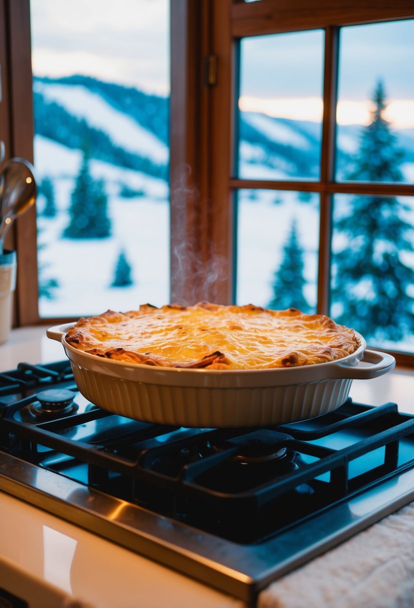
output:
[[237,218],[237,304],[316,312],[318,196],[240,190]]

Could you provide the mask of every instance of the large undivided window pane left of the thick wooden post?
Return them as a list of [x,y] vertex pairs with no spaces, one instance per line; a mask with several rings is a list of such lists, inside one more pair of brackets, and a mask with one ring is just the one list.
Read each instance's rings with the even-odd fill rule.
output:
[[169,301],[169,2],[32,0],[39,313]]

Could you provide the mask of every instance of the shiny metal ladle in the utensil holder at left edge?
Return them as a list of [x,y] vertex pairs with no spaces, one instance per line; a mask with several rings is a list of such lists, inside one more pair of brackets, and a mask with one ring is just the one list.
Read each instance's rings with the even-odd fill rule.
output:
[[12,158],[0,176],[0,250],[13,220],[24,213],[36,200],[33,167],[22,158]]

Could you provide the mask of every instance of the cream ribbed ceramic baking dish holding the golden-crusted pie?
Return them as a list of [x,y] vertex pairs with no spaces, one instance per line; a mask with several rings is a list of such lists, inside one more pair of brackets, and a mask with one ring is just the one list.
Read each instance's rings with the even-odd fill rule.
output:
[[[84,397],[109,412],[152,423],[185,427],[287,424],[341,406],[352,379],[392,370],[395,359],[367,350],[360,334],[355,353],[339,361],[265,370],[153,367],[83,353],[65,340],[73,323],[47,336],[62,342]],[[360,361],[369,365],[356,367]]]

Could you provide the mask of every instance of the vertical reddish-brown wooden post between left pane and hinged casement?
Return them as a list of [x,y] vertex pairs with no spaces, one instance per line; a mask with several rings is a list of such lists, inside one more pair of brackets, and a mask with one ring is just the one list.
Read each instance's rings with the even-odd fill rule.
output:
[[189,0],[171,3],[171,301],[181,303],[192,303],[198,291],[200,22],[199,4]]

